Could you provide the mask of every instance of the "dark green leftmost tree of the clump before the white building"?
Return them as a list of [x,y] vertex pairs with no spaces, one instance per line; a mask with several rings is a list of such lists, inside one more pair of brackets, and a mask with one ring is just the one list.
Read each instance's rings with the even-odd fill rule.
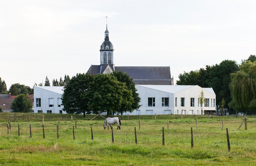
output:
[[[64,87],[64,93],[62,94],[63,110],[70,114],[90,114],[88,109],[88,103],[91,98],[90,93],[86,93],[90,90],[90,82],[92,82],[93,76],[86,74],[77,74],[73,76]],[[86,94],[84,94],[86,93]]]

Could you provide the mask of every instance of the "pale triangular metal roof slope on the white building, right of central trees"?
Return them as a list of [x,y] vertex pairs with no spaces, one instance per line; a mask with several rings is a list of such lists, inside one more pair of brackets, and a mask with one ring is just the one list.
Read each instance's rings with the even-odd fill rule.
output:
[[179,91],[194,87],[195,85],[137,85],[168,93],[177,93]]

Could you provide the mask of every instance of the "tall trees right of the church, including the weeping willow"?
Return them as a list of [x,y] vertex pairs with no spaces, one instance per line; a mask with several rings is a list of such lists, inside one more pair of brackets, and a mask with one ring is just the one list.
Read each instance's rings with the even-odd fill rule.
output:
[[[225,108],[230,107],[236,110],[256,110],[255,106],[253,108],[253,99],[255,99],[253,94],[255,94],[256,90],[256,88],[254,88],[255,85],[253,84],[255,77],[251,76],[253,74],[252,62],[254,61],[256,61],[256,56],[250,55],[247,60],[242,60],[240,65],[238,65],[236,61],[224,60],[220,64],[212,66],[207,65],[205,69],[190,72],[184,71],[184,74],[179,74],[179,80],[176,84],[199,85],[200,87],[206,88],[212,87],[216,94],[216,103],[219,105],[222,99],[224,99],[224,101],[226,101],[224,105]],[[248,74],[249,68],[251,71],[250,74]],[[238,82],[241,81],[239,78],[243,78],[244,80],[249,78],[250,81],[243,81],[243,85],[238,84]],[[243,88],[239,88],[239,86],[242,86]],[[244,100],[246,100],[246,102]],[[238,101],[242,101],[243,104]],[[240,106],[238,106],[238,104],[240,104]]]

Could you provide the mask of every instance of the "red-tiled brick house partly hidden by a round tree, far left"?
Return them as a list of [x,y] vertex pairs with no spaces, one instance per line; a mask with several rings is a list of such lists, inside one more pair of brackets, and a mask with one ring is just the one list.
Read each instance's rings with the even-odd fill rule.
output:
[[[3,108],[4,112],[11,112],[12,109],[10,108],[12,105],[13,100],[17,96],[12,96],[11,93],[9,94],[0,94],[0,106]],[[28,98],[31,100],[33,104],[33,109],[34,109],[34,94],[29,94]]]

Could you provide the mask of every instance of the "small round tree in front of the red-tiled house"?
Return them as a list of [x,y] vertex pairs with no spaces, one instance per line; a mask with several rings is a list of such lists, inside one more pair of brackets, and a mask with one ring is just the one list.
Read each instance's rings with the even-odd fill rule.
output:
[[32,111],[32,102],[26,94],[19,94],[12,102],[11,109],[14,112],[30,112]]

